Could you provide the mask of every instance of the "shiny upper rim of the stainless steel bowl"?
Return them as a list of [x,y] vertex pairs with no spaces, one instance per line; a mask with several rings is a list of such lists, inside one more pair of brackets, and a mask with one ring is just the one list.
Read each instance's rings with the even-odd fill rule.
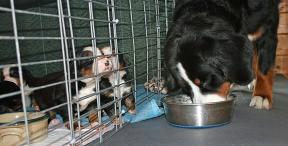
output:
[[[177,95],[181,95],[181,94],[177,94]],[[173,102],[167,102],[167,101],[163,101],[165,97],[169,97],[169,96],[173,96],[173,95],[168,95],[168,96],[164,96],[162,97],[160,100],[161,102],[165,103],[165,104],[173,104],[173,105],[207,105],[207,104],[220,104],[220,103],[225,103],[225,102],[230,102],[233,101],[237,98],[237,95],[231,93],[229,94],[229,96],[226,100],[224,101],[217,101],[217,102],[206,102],[206,103],[173,103]]]

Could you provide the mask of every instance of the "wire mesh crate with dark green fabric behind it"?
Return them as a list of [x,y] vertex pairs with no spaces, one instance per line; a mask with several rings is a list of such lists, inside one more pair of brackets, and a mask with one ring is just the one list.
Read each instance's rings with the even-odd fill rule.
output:
[[[25,105],[24,94],[29,91],[35,91],[55,84],[65,84],[67,101],[64,104],[57,105],[35,114],[44,113],[59,106],[68,108],[70,125],[83,122],[89,114],[98,113],[99,124],[91,129],[82,132],[82,130],[70,130],[69,140],[59,145],[71,143],[72,145],[84,145],[82,137],[89,134],[95,128],[99,128],[99,138],[93,142],[100,144],[107,140],[113,133],[120,130],[128,122],[121,123],[122,115],[127,113],[127,109],[122,112],[121,98],[114,98],[113,101],[104,105],[98,104],[92,112],[80,113],[78,102],[81,100],[77,96],[72,100],[71,83],[77,84],[85,77],[71,78],[69,61],[76,62],[75,52],[86,46],[92,46],[95,67],[98,68],[97,58],[107,57],[109,55],[97,54],[95,48],[110,46],[115,49],[113,55],[118,63],[120,54],[124,55],[131,64],[126,68],[129,70],[130,81],[133,85],[135,105],[139,102],[147,102],[154,93],[148,92],[138,97],[137,91],[143,89],[144,84],[152,77],[158,78],[162,74],[163,45],[167,28],[172,19],[174,1],[173,0],[0,0],[0,69],[5,67],[18,67],[19,86],[23,86],[22,71],[26,68],[36,78],[49,74],[51,72],[63,71],[64,81],[46,84],[28,89],[21,88],[20,91],[2,94],[0,98],[9,97],[14,94],[21,94],[24,117],[19,120],[25,121],[26,133],[28,133],[27,109]],[[91,58],[91,57],[90,57]],[[116,69],[108,71],[114,76],[113,80],[119,80],[119,66]],[[97,72],[97,69],[94,69]],[[71,71],[72,72],[72,71]],[[106,72],[107,73],[107,72]],[[105,89],[99,89],[99,80],[101,73],[94,73],[88,77],[95,78],[95,92],[86,98],[96,96],[98,103],[100,93]],[[87,78],[87,77],[86,77]],[[118,88],[121,84],[117,81],[109,89]],[[159,98],[160,91],[156,94]],[[114,93],[114,96],[115,93]],[[77,116],[73,118],[72,105],[77,105]],[[104,107],[113,105],[115,115],[102,120],[101,110]],[[119,111],[119,112],[116,112]],[[117,121],[119,118],[119,121]],[[112,130],[103,134],[102,124],[111,124],[111,119],[115,119],[118,124]],[[5,125],[15,123],[19,120],[1,124]],[[65,123],[49,127],[47,134],[56,130]],[[84,128],[87,128],[84,126]],[[71,126],[73,129],[73,126]],[[75,135],[78,133],[77,135]],[[26,134],[27,140],[22,145],[30,145],[35,138],[30,138]],[[55,141],[56,142],[56,141]],[[35,143],[37,144],[37,143]],[[53,142],[50,143],[53,145]]]

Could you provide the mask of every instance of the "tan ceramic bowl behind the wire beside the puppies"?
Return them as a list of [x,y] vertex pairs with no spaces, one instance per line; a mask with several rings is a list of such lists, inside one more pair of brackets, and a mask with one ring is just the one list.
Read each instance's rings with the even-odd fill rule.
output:
[[[27,115],[31,115],[35,112],[36,111],[27,111]],[[49,116],[49,113],[46,112],[28,117],[27,120],[30,139],[47,132],[47,121]],[[23,117],[24,112],[21,111],[0,114],[0,125]],[[42,136],[30,141],[30,143],[41,141],[46,137],[47,134],[43,134]],[[27,140],[24,121],[18,121],[0,128],[0,145],[19,145],[25,141]]]

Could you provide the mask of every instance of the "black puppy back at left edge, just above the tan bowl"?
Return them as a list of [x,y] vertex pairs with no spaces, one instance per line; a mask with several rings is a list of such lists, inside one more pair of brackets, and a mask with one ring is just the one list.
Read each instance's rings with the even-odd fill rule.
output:
[[[17,86],[14,82],[6,80],[0,81],[0,95],[19,90],[19,86]],[[21,108],[21,94],[0,98],[0,113],[18,111]]]

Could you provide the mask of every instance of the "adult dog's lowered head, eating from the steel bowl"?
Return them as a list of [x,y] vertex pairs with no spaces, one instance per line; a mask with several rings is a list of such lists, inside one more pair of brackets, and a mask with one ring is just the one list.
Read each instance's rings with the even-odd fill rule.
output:
[[238,34],[222,35],[168,33],[164,67],[169,90],[179,86],[194,103],[215,102],[226,99],[232,82],[244,85],[253,79],[250,41]]

